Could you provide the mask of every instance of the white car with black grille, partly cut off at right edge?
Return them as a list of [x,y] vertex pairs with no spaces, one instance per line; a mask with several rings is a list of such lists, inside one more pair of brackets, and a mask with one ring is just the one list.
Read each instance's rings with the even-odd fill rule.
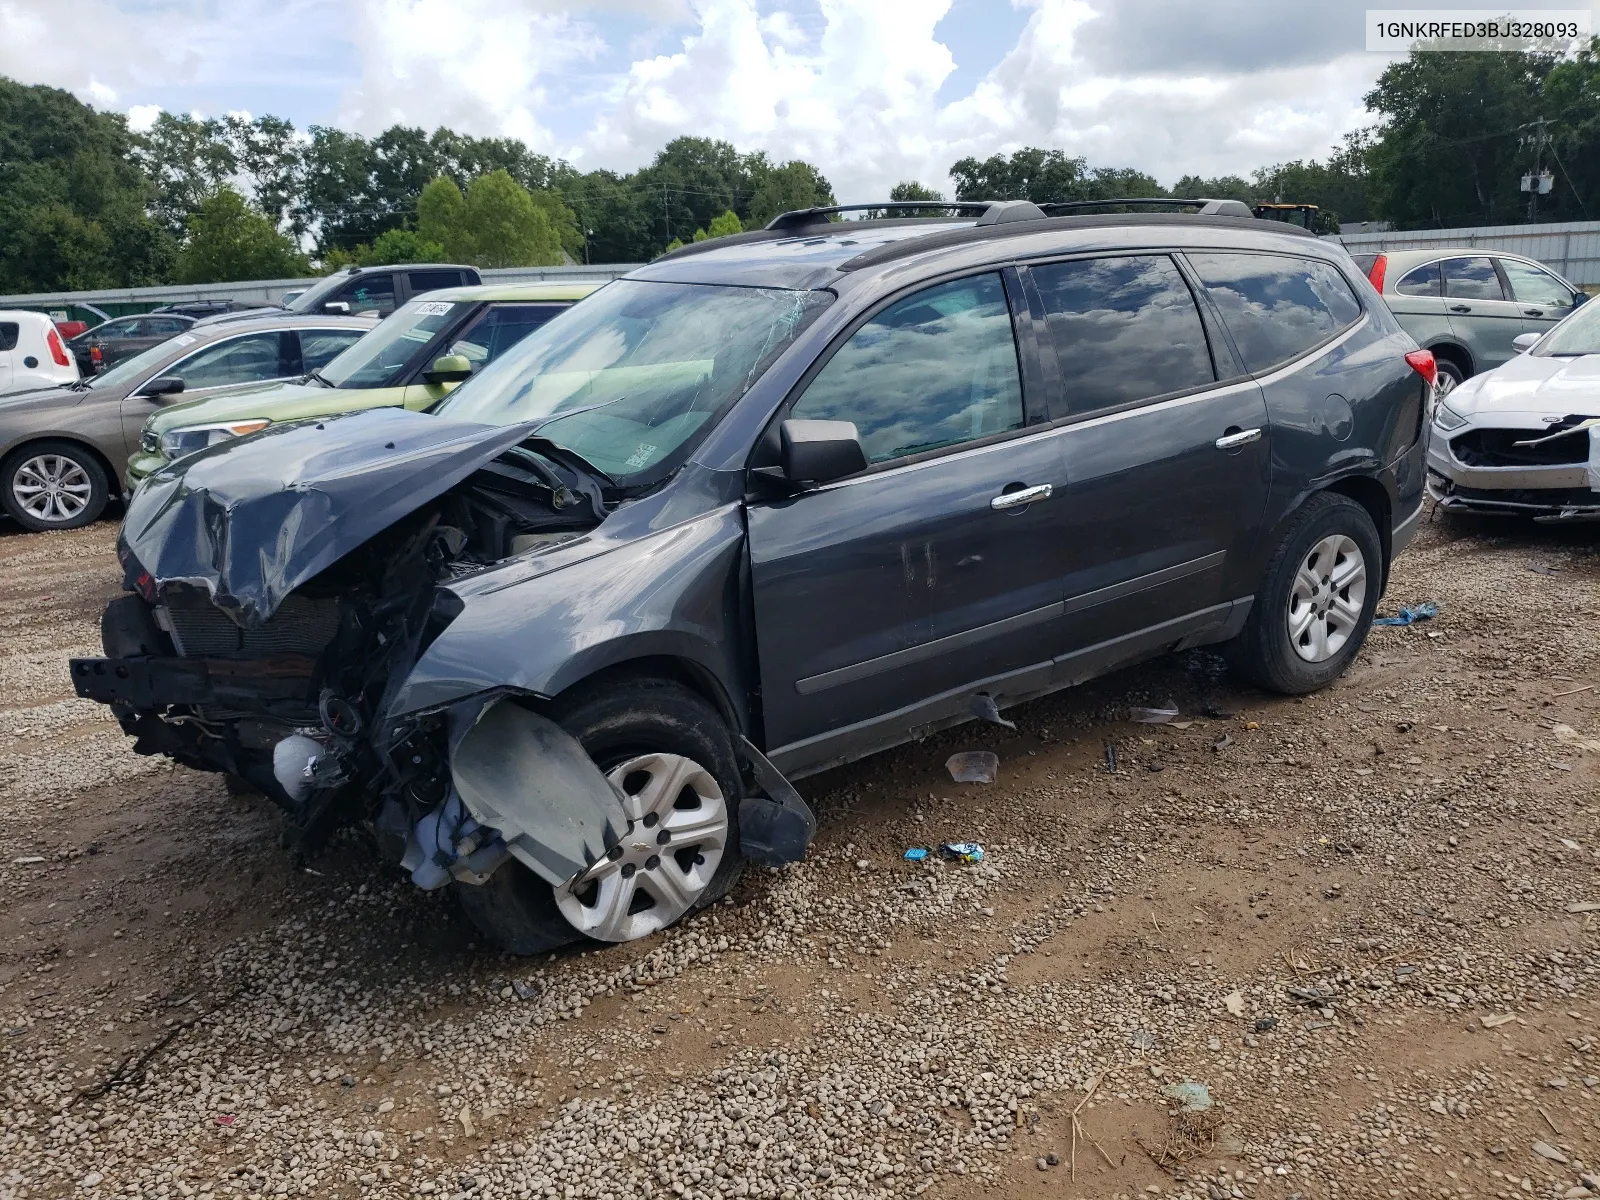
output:
[[1600,304],[1434,406],[1427,490],[1445,509],[1600,520]]

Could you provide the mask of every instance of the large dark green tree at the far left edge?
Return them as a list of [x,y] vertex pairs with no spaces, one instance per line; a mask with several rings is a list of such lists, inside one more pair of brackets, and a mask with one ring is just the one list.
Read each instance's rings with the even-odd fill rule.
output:
[[165,282],[176,242],[120,115],[0,78],[0,291]]

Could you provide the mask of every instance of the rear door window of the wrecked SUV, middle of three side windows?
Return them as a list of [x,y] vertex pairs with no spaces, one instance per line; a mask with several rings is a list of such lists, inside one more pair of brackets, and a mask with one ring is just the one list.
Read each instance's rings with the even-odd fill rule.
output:
[[1069,413],[1216,381],[1200,310],[1166,254],[1048,262],[1030,274]]

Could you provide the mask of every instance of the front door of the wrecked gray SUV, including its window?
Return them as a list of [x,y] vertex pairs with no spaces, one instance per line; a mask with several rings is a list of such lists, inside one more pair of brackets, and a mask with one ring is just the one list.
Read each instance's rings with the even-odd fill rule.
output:
[[1054,653],[1059,506],[1005,494],[1054,490],[1061,458],[1053,432],[1022,432],[1011,323],[997,274],[925,288],[856,330],[789,410],[854,422],[878,467],[749,504],[774,752],[872,722],[894,741],[896,714]]

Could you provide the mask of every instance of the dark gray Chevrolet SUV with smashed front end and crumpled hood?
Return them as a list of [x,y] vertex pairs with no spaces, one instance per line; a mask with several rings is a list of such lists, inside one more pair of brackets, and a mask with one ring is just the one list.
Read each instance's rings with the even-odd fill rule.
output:
[[787,213],[432,413],[155,472],[78,694],[539,952],[800,858],[789,778],[1114,667],[1326,685],[1416,528],[1432,358],[1227,202],[1046,210]]

